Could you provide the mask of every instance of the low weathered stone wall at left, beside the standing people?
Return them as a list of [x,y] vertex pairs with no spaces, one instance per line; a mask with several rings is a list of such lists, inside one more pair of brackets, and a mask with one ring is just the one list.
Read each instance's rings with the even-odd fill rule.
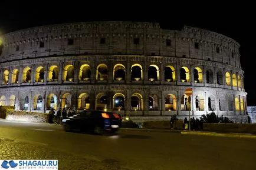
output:
[[21,122],[48,122],[48,114],[25,111],[6,111],[6,120]]

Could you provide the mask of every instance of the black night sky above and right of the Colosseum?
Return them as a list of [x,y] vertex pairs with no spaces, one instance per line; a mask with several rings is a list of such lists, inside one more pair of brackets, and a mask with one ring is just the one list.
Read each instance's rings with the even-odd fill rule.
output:
[[[65,22],[86,21],[147,21],[159,22],[163,29],[196,26],[235,39],[240,45],[241,66],[244,70],[247,105],[256,106],[256,14],[252,4],[244,6],[235,1],[4,1],[0,9],[0,32]],[[153,4],[152,4],[153,2]],[[160,3],[161,2],[161,3]],[[237,1],[238,2],[238,1]]]

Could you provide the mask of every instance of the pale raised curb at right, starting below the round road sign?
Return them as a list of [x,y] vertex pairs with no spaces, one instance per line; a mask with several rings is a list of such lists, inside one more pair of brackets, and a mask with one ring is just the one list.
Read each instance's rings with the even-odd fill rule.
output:
[[256,139],[256,135],[252,135],[252,134],[220,134],[217,132],[185,132],[182,131],[180,132],[180,134],[183,135],[205,135],[205,136],[221,136],[221,137],[229,137],[229,138],[252,138],[252,139]]

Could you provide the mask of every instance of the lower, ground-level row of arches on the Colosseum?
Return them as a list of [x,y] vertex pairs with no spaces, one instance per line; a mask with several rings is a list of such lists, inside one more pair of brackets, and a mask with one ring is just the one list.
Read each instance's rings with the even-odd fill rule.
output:
[[[49,94],[47,98],[45,99],[46,103],[44,103],[44,99],[42,98],[42,95],[37,94],[35,95],[31,102],[31,106],[29,106],[29,98],[28,96],[25,96],[24,99],[21,99],[21,105],[20,109],[22,110],[28,110],[29,107],[31,107],[32,110],[38,110],[42,111],[44,109],[50,110],[58,109],[58,108],[73,108],[74,104],[74,97],[71,93],[65,93],[61,96],[60,102],[58,102],[57,95],[55,94]],[[204,95],[196,95],[193,99],[193,103],[195,104],[194,109],[195,111],[215,111],[216,110],[216,102],[218,102],[218,110],[219,111],[227,111],[225,106],[225,98],[221,97],[218,99],[218,101],[215,101],[215,96],[208,96],[205,98]],[[9,98],[9,105],[15,106],[17,104],[15,101],[16,97],[15,95],[11,95]],[[97,110],[104,110],[109,109],[109,105],[111,104],[111,109],[113,110],[126,110],[129,109],[131,111],[159,111],[161,108],[160,106],[160,100],[157,95],[149,95],[147,98],[143,98],[143,96],[139,93],[134,93],[130,96],[129,99],[129,106],[130,108],[127,108],[127,102],[126,97],[122,93],[116,93],[113,95],[113,97],[109,97],[106,93],[100,93],[96,95],[96,98],[90,98],[90,95],[87,93],[81,93],[78,95],[78,98],[76,99],[77,102],[77,109],[97,109]],[[110,101],[111,100],[111,101]],[[244,98],[242,96],[235,97],[235,111],[244,111]],[[5,96],[1,96],[0,98],[0,105],[5,105],[6,98]],[[94,106],[95,108],[92,108],[91,104],[95,102]],[[147,102],[147,105],[145,104]],[[167,94],[165,96],[165,111],[177,111],[178,105],[180,105],[181,111],[191,111],[191,96],[182,95],[180,97],[180,102],[178,103],[178,99],[174,94]],[[207,105],[207,109],[206,106]],[[147,106],[147,108],[145,108]]]

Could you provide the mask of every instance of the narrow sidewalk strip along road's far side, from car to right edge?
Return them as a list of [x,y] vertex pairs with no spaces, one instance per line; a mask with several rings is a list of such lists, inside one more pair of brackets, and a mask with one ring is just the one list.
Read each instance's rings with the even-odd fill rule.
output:
[[254,134],[239,134],[239,133],[221,133],[221,132],[208,132],[208,131],[186,131],[176,129],[147,129],[147,128],[120,128],[120,130],[129,131],[149,131],[149,132],[171,132],[182,135],[205,135],[205,136],[222,136],[229,138],[252,138],[256,139]]

